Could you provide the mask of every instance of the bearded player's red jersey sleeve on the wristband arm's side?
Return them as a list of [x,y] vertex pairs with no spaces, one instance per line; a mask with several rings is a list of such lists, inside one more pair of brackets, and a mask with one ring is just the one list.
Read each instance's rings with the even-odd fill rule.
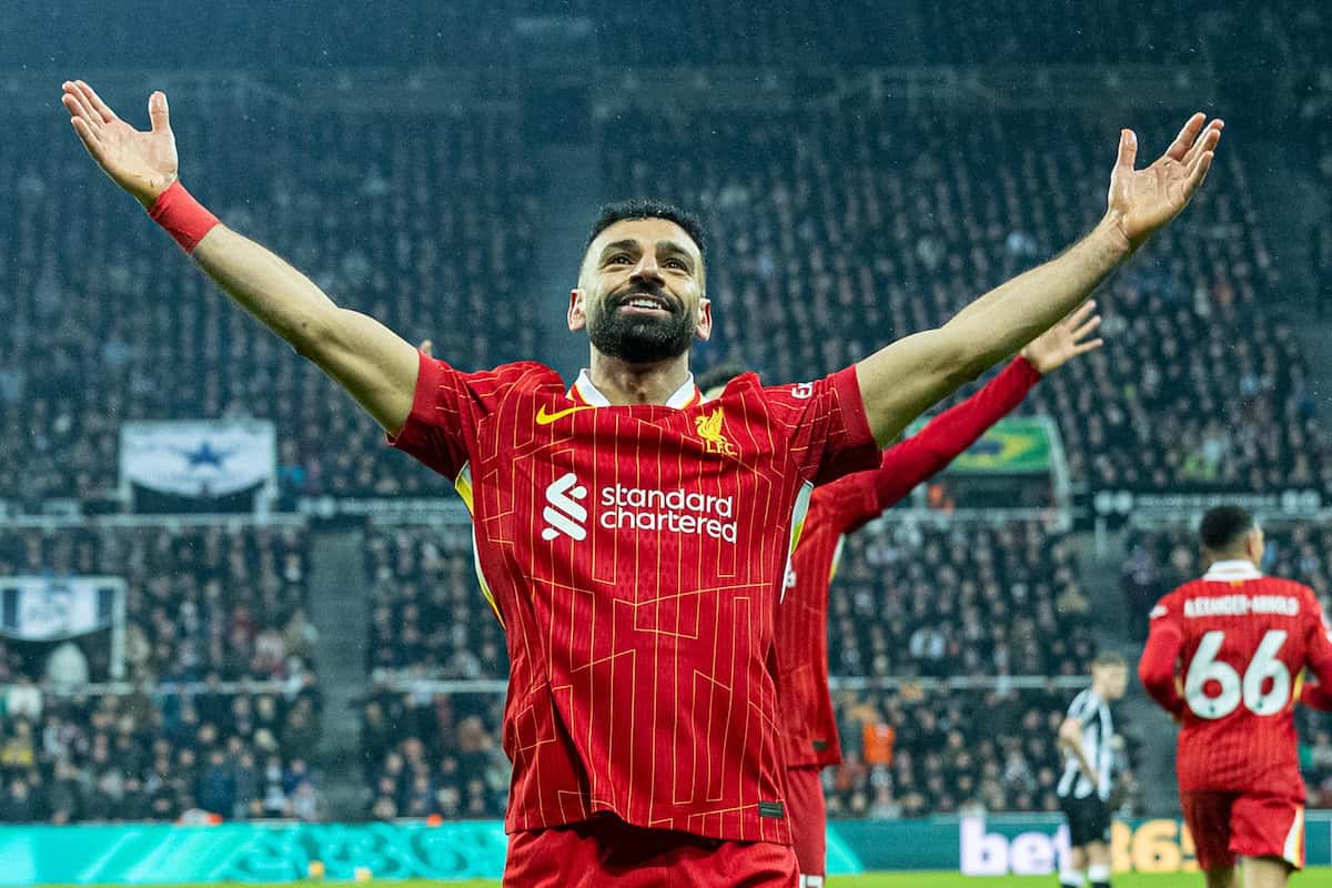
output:
[[412,413],[402,430],[389,435],[389,445],[457,481],[472,458],[477,427],[513,385],[517,366],[462,373],[420,353]]

